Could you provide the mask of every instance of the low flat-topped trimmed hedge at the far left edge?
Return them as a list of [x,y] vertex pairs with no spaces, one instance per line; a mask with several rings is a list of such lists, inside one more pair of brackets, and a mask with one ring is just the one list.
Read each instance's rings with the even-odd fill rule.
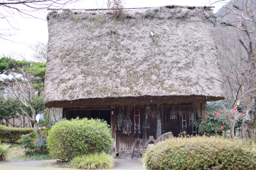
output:
[[22,134],[29,134],[33,131],[33,128],[6,127],[5,125],[0,125],[0,139],[4,143],[16,143]]

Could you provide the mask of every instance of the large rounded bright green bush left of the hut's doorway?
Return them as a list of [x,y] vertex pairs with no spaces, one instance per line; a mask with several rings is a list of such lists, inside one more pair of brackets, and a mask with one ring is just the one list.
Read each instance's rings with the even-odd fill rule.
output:
[[112,141],[106,122],[88,118],[61,120],[49,130],[47,136],[50,155],[68,160],[88,153],[110,153]]

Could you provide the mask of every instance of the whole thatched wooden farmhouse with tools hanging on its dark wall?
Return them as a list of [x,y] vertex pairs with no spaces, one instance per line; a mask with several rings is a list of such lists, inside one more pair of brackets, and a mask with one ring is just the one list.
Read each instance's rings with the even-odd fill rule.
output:
[[195,135],[206,101],[223,97],[210,8],[52,11],[45,99],[63,117],[100,118],[113,153],[165,132]]

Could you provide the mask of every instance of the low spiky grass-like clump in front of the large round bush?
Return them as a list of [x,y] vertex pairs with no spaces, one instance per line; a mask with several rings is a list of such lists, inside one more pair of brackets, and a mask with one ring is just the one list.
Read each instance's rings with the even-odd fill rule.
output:
[[78,169],[110,169],[115,164],[111,155],[102,152],[75,157],[70,165]]

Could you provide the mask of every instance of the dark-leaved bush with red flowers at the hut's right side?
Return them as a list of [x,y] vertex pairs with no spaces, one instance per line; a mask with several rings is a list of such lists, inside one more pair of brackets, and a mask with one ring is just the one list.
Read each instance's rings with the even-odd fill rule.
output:
[[219,110],[209,112],[204,117],[199,118],[195,125],[198,127],[199,134],[207,136],[222,135],[223,131],[230,130],[232,124],[241,120],[243,113],[237,110]]

